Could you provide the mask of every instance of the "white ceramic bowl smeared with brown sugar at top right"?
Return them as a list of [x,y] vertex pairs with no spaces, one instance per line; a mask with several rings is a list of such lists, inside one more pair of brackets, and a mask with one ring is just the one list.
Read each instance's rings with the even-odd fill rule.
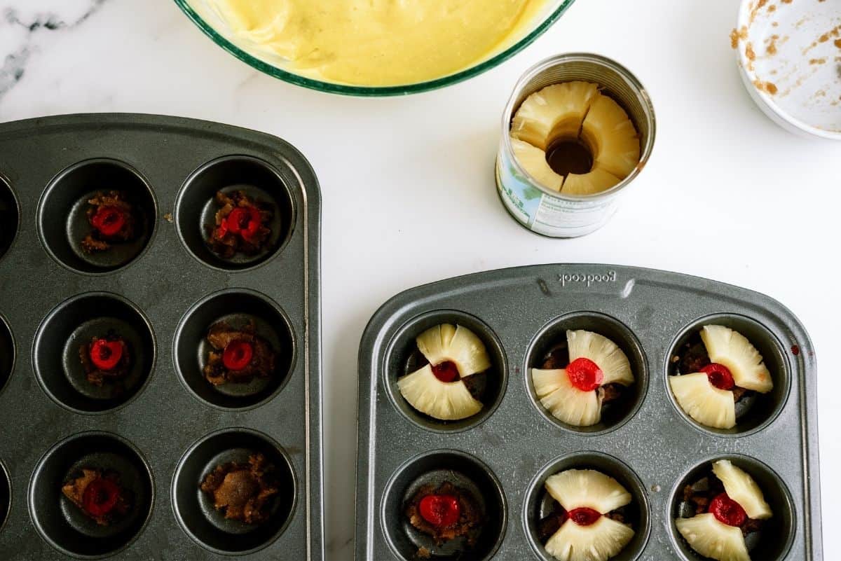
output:
[[841,140],[841,0],[743,0],[733,46],[764,113],[793,133]]

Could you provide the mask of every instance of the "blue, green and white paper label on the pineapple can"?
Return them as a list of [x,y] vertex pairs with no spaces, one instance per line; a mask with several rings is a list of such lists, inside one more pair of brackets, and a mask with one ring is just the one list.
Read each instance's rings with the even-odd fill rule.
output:
[[511,157],[500,153],[496,186],[508,212],[533,232],[575,238],[601,228],[616,212],[616,195],[581,200],[547,195],[512,165]]

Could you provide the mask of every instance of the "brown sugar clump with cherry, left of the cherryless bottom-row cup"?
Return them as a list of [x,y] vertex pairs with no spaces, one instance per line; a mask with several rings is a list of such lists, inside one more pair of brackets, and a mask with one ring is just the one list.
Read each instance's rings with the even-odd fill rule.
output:
[[131,509],[131,492],[119,485],[115,471],[84,468],[61,486],[61,493],[100,526],[119,522]]

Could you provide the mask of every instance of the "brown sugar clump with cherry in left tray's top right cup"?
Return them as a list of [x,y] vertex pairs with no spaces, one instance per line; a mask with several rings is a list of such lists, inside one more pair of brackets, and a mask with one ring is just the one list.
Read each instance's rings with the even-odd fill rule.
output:
[[215,254],[230,259],[237,253],[256,255],[265,249],[274,217],[270,205],[248,197],[245,191],[218,191],[215,201],[220,209],[208,239]]

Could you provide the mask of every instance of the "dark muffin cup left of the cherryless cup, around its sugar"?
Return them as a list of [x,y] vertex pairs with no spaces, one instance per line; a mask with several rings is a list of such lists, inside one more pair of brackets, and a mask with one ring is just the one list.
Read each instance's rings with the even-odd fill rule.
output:
[[[64,492],[66,485],[95,470],[115,482],[125,506],[100,523]],[[88,483],[84,488],[87,491]],[[140,451],[111,433],[79,433],[40,459],[29,481],[29,515],[53,548],[76,558],[103,558],[127,548],[149,521],[155,487]],[[87,501],[87,492],[84,493]],[[87,505],[87,502],[83,503]]]

